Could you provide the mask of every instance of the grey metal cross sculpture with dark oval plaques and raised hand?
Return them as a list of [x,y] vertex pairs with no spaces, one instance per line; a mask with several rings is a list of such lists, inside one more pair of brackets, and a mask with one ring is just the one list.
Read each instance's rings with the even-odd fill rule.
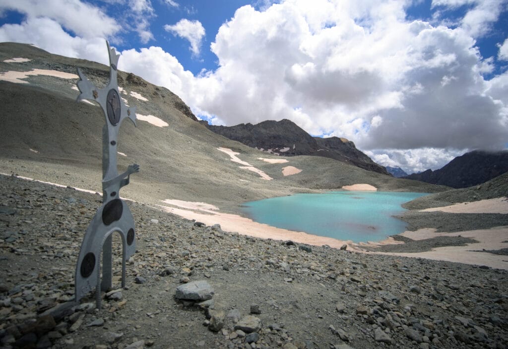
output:
[[[76,264],[75,294],[79,300],[93,288],[96,289],[96,305],[101,307],[101,291],[107,291],[112,286],[111,240],[117,231],[122,239],[122,287],[125,287],[125,264],[136,252],[136,233],[134,220],[129,206],[120,199],[119,190],[129,184],[130,175],[139,171],[139,165],[129,165],[127,170],[118,175],[116,167],[118,131],[125,118],[131,119],[136,126],[136,108],[125,106],[118,93],[117,63],[120,55],[114,48],[109,47],[109,84],[103,89],[97,89],[78,68],[78,88],[81,92],[77,101],[89,99],[96,101],[102,107],[106,124],[102,132],[102,193],[103,204],[93,217],[86,230],[78,263]],[[102,281],[101,281],[101,251],[103,253]]]

